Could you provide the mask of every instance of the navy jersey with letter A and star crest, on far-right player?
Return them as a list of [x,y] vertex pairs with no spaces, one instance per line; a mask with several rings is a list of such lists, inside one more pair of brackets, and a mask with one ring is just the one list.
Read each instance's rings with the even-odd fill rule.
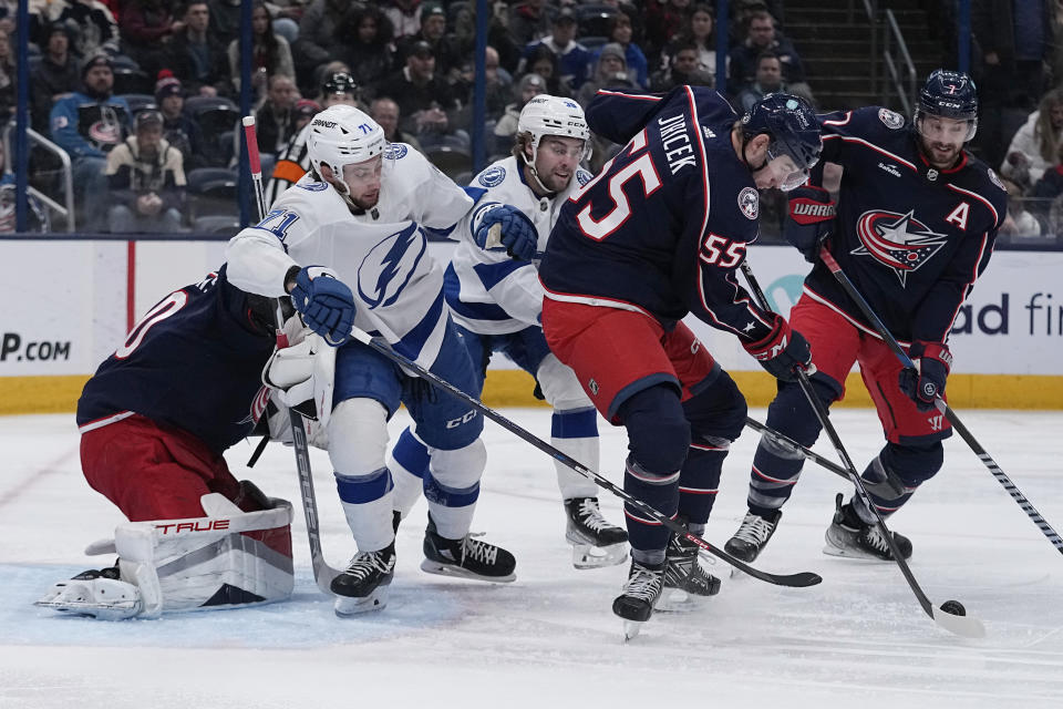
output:
[[[819,122],[821,163],[844,167],[830,254],[898,340],[945,342],[989,264],[1008,193],[966,152],[951,169],[931,167],[911,124],[888,109],[830,113]],[[822,263],[805,292],[874,332]]]

